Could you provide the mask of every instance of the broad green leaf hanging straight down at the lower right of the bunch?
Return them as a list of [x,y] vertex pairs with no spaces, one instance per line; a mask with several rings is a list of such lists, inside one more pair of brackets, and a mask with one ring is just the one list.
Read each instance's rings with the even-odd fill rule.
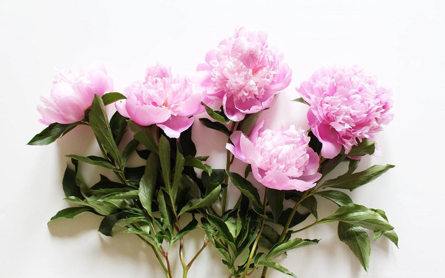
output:
[[342,242],[349,246],[359,259],[364,270],[368,271],[371,246],[369,244],[369,237],[366,230],[350,223],[339,222],[338,237]]

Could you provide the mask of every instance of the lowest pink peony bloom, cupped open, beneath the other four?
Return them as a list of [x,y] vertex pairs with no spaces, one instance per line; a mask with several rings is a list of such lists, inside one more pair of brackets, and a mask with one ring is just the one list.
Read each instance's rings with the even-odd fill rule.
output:
[[318,155],[308,147],[310,138],[303,129],[263,129],[264,120],[258,122],[250,137],[235,131],[230,139],[233,145],[226,148],[233,155],[252,166],[255,179],[264,186],[304,191],[314,187],[321,177],[317,173]]

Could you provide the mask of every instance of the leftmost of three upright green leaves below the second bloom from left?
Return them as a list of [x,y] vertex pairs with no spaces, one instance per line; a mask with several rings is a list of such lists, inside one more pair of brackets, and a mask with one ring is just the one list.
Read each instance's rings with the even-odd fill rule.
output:
[[147,210],[151,216],[151,202],[153,200],[154,189],[156,187],[156,178],[158,176],[159,158],[156,153],[150,153],[147,158],[144,175],[139,184],[139,199],[142,206]]

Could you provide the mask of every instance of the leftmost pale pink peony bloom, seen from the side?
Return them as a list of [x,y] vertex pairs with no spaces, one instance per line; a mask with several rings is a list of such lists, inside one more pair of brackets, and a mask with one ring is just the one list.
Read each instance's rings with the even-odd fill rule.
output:
[[94,94],[103,96],[113,91],[113,80],[101,63],[92,64],[79,73],[58,71],[53,84],[51,95],[42,95],[43,105],[37,105],[37,111],[42,115],[39,121],[45,125],[81,121],[93,102]]

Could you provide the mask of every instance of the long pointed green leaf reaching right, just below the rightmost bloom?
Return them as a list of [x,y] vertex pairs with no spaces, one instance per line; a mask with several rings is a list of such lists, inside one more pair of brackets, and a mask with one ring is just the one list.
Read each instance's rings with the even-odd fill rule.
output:
[[368,169],[353,173],[351,175],[340,176],[338,178],[325,181],[322,185],[325,187],[333,187],[333,188],[341,188],[341,189],[349,189],[350,191],[360,187],[368,182],[375,180],[377,177],[380,177],[383,173],[393,168],[394,165],[374,165],[369,167]]

